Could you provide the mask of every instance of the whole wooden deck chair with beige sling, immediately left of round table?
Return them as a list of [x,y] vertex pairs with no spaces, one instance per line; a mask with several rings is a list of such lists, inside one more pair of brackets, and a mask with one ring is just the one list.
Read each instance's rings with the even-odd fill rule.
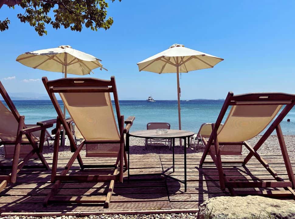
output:
[[[78,202],[78,203],[104,203],[108,207],[113,192],[114,182],[123,182],[123,162],[127,166],[127,156],[124,145],[124,134],[129,129],[135,119],[134,116],[128,117],[125,121],[124,116],[120,114],[120,107],[115,83],[115,77],[111,80],[102,80],[96,78],[62,78],[54,81],[48,81],[47,77],[42,78],[43,84],[50,96],[50,99],[56,109],[57,134],[54,142],[54,155],[52,164],[51,182],[55,182],[51,192],[48,194],[43,204],[48,202]],[[71,119],[75,126],[80,130],[83,141],[78,147],[75,139],[68,126],[67,121],[63,118],[61,107],[59,106],[54,93],[59,93]],[[113,93],[116,117],[119,130],[117,128],[113,106],[110,98]],[[74,152],[65,169],[60,175],[57,175],[58,159],[58,136],[60,127],[63,125],[66,135],[70,141],[71,151]],[[84,165],[80,156],[80,151],[86,145],[87,156],[95,157],[116,157],[116,163],[113,165]],[[82,170],[91,168],[113,168],[111,175],[67,175],[75,159]],[[118,172],[120,172],[118,174]],[[62,181],[79,181],[79,182],[110,182],[106,197],[102,196],[54,196]],[[102,197],[102,198],[101,198]]]

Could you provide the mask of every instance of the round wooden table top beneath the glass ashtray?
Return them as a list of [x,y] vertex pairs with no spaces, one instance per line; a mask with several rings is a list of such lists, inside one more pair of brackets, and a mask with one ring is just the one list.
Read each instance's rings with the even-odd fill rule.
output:
[[175,130],[168,129],[167,133],[156,133],[156,129],[140,130],[130,132],[129,135],[133,137],[144,137],[144,138],[177,138],[177,137],[189,137],[195,133],[186,130]]

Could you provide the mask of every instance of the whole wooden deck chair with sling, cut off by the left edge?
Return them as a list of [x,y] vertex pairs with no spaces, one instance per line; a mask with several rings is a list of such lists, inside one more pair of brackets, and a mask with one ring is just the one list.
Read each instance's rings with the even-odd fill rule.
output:
[[[12,100],[10,99],[8,93],[6,92],[4,86],[0,81],[0,93],[5,100],[8,108],[0,101],[0,145],[14,145],[14,153],[12,160],[11,172],[8,175],[0,176],[0,191],[2,191],[7,183],[15,183],[16,175],[26,165],[30,158],[34,154],[37,154],[41,160],[45,169],[49,169],[49,166],[42,155],[42,148],[44,144],[44,138],[46,133],[46,128],[52,127],[54,122],[48,123],[46,126],[34,126],[26,127],[25,116],[20,116],[16,107],[14,106]],[[41,130],[40,140],[37,139],[35,135],[32,134],[34,131]],[[39,143],[39,145],[38,145]],[[30,151],[27,151],[24,155],[23,160],[19,162],[19,156],[24,145],[30,145]],[[5,166],[0,162],[0,168],[5,169]]]

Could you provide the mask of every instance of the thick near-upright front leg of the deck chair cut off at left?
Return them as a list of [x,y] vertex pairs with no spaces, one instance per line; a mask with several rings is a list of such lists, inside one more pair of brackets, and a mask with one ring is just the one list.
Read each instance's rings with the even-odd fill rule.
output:
[[23,137],[23,135],[20,134],[20,130],[23,129],[25,125],[24,121],[25,121],[25,116],[19,116],[19,125],[17,128],[16,145],[14,147],[12,171],[11,171],[11,179],[10,179],[12,183],[16,182],[17,167],[19,164],[20,144],[22,142],[22,137]]

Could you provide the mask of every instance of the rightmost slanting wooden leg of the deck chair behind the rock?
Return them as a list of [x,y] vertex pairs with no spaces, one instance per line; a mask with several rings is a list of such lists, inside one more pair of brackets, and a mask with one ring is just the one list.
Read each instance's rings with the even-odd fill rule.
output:
[[286,169],[287,169],[289,180],[292,182],[292,187],[295,188],[295,177],[294,177],[292,165],[290,163],[290,158],[289,158],[289,155],[288,155],[288,151],[286,149],[286,144],[285,144],[285,140],[284,140],[283,133],[282,133],[280,125],[278,125],[276,127],[276,134],[277,134],[278,139],[279,139],[279,145],[281,147],[281,151],[282,151],[283,159],[284,159],[285,166],[286,166]]

